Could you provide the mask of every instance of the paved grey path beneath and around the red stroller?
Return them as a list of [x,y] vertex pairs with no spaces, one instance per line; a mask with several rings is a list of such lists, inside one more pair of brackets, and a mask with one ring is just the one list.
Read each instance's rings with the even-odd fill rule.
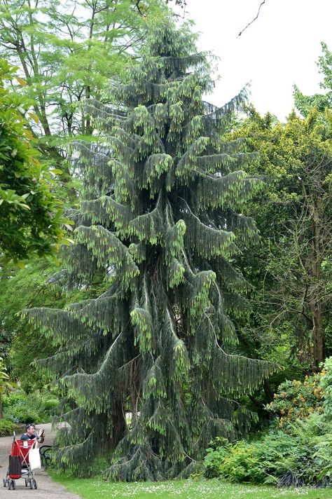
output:
[[[51,432],[50,424],[37,425],[37,430],[39,428],[45,429],[45,442],[46,445],[51,445],[54,438],[54,433]],[[20,437],[20,435],[18,435]],[[2,479],[6,477],[8,470],[8,456],[11,453],[11,442],[13,437],[1,437],[0,438],[0,498],[6,499],[80,499],[78,495],[67,491],[67,488],[60,484],[55,484],[54,481],[48,477],[48,474],[43,470],[36,470],[36,481],[37,490],[30,489],[25,486],[25,481],[23,479],[15,480],[16,489],[15,491],[9,491],[8,486],[4,488]]]

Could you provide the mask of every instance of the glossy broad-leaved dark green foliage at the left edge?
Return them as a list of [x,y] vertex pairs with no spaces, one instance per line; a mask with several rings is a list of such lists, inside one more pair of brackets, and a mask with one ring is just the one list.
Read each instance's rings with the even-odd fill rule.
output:
[[50,190],[52,175],[22,117],[29,102],[5,87],[14,71],[0,60],[0,254],[22,261],[54,256],[67,240],[61,203]]

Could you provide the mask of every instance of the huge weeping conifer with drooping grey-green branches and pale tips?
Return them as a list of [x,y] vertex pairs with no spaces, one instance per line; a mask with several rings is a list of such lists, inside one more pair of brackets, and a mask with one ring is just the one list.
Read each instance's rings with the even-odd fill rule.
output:
[[232,260],[237,240],[256,237],[240,210],[258,182],[241,170],[252,156],[223,137],[244,95],[204,102],[209,69],[189,29],[166,23],[112,90],[116,107],[89,103],[99,136],[79,144],[85,200],[69,279],[103,275],[106,291],[29,310],[59,344],[46,366],[69,397],[64,465],[106,454],[112,478],[184,476],[210,439],[248,428],[236,399],[271,370],[236,355],[230,316],[246,282]]

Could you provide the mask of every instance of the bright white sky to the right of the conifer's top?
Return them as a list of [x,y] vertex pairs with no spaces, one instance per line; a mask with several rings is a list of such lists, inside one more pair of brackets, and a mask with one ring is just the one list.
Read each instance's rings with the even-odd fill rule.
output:
[[293,107],[293,83],[311,95],[321,91],[320,42],[332,50],[332,0],[187,0],[199,46],[220,57],[221,81],[208,100],[222,105],[251,81],[251,102],[284,121]]

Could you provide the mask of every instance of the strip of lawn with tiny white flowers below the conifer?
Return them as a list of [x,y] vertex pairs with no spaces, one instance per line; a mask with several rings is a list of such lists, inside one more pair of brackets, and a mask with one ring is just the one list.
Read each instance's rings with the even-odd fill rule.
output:
[[83,499],[332,499],[332,488],[283,488],[226,484],[219,480],[178,480],[164,482],[106,482],[78,479],[50,471],[50,476]]

